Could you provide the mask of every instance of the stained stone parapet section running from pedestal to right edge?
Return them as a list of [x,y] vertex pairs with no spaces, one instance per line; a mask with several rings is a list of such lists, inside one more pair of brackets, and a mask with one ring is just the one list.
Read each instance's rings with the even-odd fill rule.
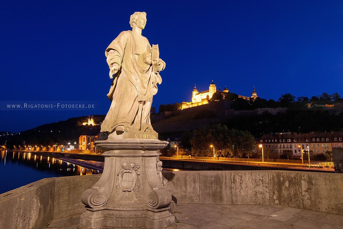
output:
[[293,171],[165,172],[176,203],[283,205],[343,215],[343,174]]

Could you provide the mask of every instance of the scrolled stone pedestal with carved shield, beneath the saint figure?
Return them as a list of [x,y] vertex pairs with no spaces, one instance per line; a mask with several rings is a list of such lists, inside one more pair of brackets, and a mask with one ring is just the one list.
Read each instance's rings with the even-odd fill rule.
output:
[[96,141],[104,150],[104,172],[82,194],[86,211],[78,228],[176,228],[170,209],[173,184],[163,178],[158,160],[159,150],[167,143],[157,139]]

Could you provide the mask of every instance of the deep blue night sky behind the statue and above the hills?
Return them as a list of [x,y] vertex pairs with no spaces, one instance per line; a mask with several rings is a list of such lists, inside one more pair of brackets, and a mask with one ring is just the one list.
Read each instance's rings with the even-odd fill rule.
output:
[[[98,111],[0,111],[0,131],[106,114],[104,50],[147,13],[166,62],[153,106],[190,101],[194,83],[277,100],[343,95],[342,1],[7,1],[0,7],[1,101],[98,101]],[[122,1],[124,2],[124,1]]]

